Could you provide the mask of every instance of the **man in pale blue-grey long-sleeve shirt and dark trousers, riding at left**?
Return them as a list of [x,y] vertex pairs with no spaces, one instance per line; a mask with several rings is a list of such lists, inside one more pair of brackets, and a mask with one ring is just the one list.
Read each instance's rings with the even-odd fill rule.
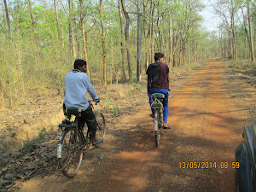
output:
[[94,101],[100,102],[96,95],[88,75],[86,74],[86,61],[76,60],[74,69],[67,73],[65,77],[65,97],[64,103],[66,108],[76,107],[82,109],[81,117],[79,117],[79,127],[84,127],[84,123],[88,126],[90,140],[92,145],[99,147],[102,139],[96,138],[96,116],[90,108],[90,104],[85,94],[88,91]]

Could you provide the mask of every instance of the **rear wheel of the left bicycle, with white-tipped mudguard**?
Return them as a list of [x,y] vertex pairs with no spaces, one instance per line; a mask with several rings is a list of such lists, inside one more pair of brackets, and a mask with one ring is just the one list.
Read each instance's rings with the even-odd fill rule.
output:
[[75,138],[75,131],[75,127],[62,131],[57,148],[59,167],[69,178],[77,174],[83,160],[83,139],[80,131]]

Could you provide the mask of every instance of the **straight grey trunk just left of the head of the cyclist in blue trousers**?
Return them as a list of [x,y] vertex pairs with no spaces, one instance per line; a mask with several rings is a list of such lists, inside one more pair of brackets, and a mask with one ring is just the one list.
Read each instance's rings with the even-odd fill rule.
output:
[[137,81],[141,80],[142,73],[142,20],[141,0],[137,0]]

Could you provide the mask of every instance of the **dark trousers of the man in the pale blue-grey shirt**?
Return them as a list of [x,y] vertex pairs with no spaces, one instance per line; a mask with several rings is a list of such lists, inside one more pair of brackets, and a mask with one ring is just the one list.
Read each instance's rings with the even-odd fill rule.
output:
[[85,111],[82,111],[81,117],[79,117],[80,128],[84,128],[84,123],[88,126],[89,132],[96,132],[96,116],[90,106]]

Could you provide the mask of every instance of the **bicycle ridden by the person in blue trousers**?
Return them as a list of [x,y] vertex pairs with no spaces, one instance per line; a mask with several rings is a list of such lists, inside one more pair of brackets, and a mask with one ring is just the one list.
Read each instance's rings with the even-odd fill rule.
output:
[[151,108],[154,108],[154,137],[155,137],[155,145],[158,147],[160,145],[160,135],[161,130],[164,126],[163,121],[163,102],[165,99],[165,95],[162,93],[154,93],[152,94],[153,103],[151,104]]

